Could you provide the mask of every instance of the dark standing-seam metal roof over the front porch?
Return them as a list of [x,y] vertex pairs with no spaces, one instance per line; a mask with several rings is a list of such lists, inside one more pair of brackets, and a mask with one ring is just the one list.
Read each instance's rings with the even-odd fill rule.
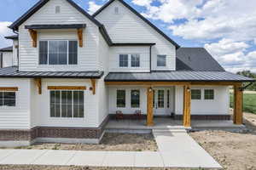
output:
[[227,71],[111,72],[105,82],[255,82]]

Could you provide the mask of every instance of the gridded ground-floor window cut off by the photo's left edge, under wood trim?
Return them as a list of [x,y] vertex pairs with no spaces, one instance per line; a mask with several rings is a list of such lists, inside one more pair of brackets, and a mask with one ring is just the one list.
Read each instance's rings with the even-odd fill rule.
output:
[[0,106],[15,106],[16,93],[15,92],[0,92]]

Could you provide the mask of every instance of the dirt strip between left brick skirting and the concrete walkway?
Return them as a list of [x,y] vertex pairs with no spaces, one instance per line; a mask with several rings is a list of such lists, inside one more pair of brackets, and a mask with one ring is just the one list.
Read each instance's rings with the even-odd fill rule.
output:
[[108,151],[156,151],[157,144],[152,133],[128,134],[105,133],[101,144],[52,144],[36,143],[15,149],[30,150],[108,150]]

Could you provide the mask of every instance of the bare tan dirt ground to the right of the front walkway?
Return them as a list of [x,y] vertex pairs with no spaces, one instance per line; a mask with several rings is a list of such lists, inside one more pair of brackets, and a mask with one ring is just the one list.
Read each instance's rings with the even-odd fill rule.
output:
[[228,170],[256,170],[256,115],[244,113],[246,132],[201,131],[189,133]]

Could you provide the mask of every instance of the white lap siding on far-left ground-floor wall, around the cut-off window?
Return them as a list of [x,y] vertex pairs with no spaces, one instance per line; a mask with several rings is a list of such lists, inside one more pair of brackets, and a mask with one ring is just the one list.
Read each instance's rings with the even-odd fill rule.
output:
[[18,87],[16,106],[0,106],[0,129],[30,128],[30,79],[0,78],[0,87]]

